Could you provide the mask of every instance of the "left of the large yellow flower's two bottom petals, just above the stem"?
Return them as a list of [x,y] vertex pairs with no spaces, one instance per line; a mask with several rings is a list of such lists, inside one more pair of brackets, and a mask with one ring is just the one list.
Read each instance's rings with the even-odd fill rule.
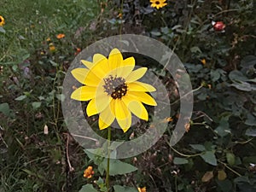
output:
[[114,116],[114,108],[113,108],[113,100],[109,103],[108,107],[105,108],[99,116],[99,127],[100,130],[107,128],[113,123],[115,119]]

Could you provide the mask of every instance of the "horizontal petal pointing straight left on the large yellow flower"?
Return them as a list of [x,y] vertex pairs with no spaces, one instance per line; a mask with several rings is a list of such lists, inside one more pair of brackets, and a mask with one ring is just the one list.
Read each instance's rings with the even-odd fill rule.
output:
[[82,86],[74,90],[71,98],[78,101],[89,101],[96,94],[96,87]]

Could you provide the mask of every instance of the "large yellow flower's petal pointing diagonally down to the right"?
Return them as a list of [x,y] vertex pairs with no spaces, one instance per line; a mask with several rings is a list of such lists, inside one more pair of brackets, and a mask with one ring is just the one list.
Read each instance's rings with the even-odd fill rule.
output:
[[148,112],[142,102],[134,100],[132,96],[123,96],[122,100],[131,113],[134,113],[139,119],[148,120]]

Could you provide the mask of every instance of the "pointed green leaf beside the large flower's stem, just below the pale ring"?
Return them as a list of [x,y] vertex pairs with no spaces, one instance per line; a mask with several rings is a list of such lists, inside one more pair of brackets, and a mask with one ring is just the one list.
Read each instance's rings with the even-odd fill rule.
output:
[[[104,159],[102,162],[102,166],[105,170],[107,170],[108,165],[108,159]],[[110,168],[109,168],[109,175],[123,175],[125,173],[129,172],[135,172],[137,171],[136,166],[131,166],[131,164],[122,162],[120,160],[110,160]]]

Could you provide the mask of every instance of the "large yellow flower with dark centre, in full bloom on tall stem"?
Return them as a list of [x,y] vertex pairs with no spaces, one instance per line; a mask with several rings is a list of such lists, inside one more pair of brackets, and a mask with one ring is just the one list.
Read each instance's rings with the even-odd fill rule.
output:
[[154,98],[146,92],[155,91],[150,84],[137,81],[147,71],[147,67],[133,70],[135,59],[123,59],[119,49],[113,49],[108,59],[95,54],[93,61],[81,61],[84,68],[71,72],[83,86],[74,90],[71,98],[90,101],[86,108],[88,116],[99,113],[100,130],[117,120],[125,132],[131,127],[131,113],[140,119],[148,120],[148,112],[143,103],[156,106]]

